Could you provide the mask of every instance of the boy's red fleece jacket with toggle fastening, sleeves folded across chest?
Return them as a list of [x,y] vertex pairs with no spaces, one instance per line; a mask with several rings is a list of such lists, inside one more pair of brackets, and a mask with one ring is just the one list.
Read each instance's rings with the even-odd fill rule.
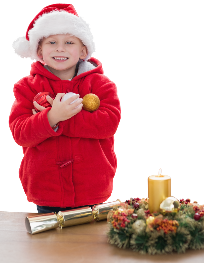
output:
[[[115,134],[122,112],[116,83],[104,75],[102,62],[71,81],[61,80],[43,67],[31,63],[29,75],[13,85],[14,102],[8,118],[15,143],[22,147],[18,177],[29,203],[40,206],[76,207],[106,202],[113,192],[117,170]],[[33,115],[33,99],[42,91],[54,94],[78,93],[83,98],[96,94],[100,107],[82,109],[59,122],[55,132],[47,112]],[[70,160],[67,166],[62,163]]]

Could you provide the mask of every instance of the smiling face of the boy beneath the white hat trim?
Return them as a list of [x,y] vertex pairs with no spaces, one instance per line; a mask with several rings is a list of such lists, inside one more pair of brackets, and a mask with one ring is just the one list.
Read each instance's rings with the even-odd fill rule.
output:
[[59,71],[75,70],[79,58],[84,59],[88,54],[81,40],[69,34],[43,38],[38,47],[38,57],[50,68]]

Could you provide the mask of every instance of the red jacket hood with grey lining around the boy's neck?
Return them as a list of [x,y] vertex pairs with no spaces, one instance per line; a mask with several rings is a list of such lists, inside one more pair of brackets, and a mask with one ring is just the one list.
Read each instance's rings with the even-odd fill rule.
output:
[[[77,75],[74,77],[74,80],[85,77],[92,73],[99,73],[104,75],[103,63],[101,60],[91,57],[88,61],[78,62],[76,69],[78,70]],[[46,67],[46,64],[40,61],[31,63],[30,75],[34,77],[36,74],[40,74],[46,78],[52,80],[61,80],[55,76],[51,70]]]

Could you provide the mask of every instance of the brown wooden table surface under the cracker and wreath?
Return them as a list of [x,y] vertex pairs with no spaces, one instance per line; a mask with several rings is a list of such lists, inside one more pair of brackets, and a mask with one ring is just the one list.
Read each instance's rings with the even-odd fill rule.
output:
[[37,212],[0,211],[2,263],[204,262],[204,249],[172,255],[141,255],[130,249],[119,249],[107,243],[109,226],[105,220],[31,235],[26,230],[25,218],[33,215]]

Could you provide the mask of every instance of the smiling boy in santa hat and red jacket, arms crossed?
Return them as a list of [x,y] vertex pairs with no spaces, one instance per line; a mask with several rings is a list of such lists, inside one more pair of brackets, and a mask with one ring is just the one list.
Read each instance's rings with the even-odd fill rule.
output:
[[[121,107],[115,82],[104,75],[102,62],[91,57],[96,43],[90,24],[72,4],[51,4],[38,12],[12,48],[18,57],[35,61],[29,75],[13,85],[8,120],[15,143],[22,147],[18,175],[27,201],[36,204],[38,213],[106,202],[117,170],[114,134]],[[36,113],[33,99],[44,91],[55,99],[47,98],[48,108],[34,102],[40,110]],[[61,102],[67,92],[76,95]],[[88,93],[100,99],[92,113],[82,108]]]

